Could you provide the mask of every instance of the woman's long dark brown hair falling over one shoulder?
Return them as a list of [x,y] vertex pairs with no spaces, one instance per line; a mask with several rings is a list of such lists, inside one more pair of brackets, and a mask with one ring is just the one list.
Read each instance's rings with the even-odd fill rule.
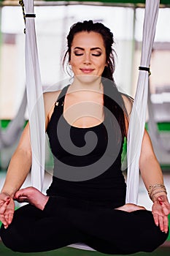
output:
[[114,43],[113,34],[104,24],[102,23],[93,23],[93,20],[85,20],[83,22],[75,23],[69,31],[67,36],[67,50],[63,57],[63,65],[66,62],[67,56],[68,61],[71,58],[71,48],[74,35],[82,31],[93,31],[98,34],[101,34],[101,37],[104,40],[104,46],[106,50],[106,63],[107,66],[104,67],[104,71],[101,75],[101,81],[104,85],[104,106],[110,110],[110,112],[117,119],[118,124],[120,125],[120,130],[123,138],[126,137],[125,129],[125,118],[127,116],[123,98],[120,92],[117,90],[115,81],[113,78],[113,73],[115,71],[115,50],[113,50],[112,45]]

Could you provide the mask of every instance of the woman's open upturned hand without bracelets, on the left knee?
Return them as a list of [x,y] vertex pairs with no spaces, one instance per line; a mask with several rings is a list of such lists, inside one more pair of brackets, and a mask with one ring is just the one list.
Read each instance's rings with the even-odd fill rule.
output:
[[7,228],[11,224],[15,210],[15,203],[12,197],[6,193],[0,193],[0,221]]

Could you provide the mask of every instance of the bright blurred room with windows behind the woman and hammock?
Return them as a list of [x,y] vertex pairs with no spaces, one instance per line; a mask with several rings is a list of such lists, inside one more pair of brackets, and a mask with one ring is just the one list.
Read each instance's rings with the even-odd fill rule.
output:
[[[77,21],[94,20],[108,26],[115,37],[118,89],[134,97],[142,49],[144,1],[34,1],[39,64],[44,90],[68,77],[62,59],[66,50],[66,35]],[[18,110],[26,88],[25,28],[18,1],[0,1],[0,189],[4,182],[9,159],[20,138],[3,143],[3,136]],[[170,1],[161,1],[150,69],[149,129],[155,154],[161,164],[170,195]],[[28,119],[24,115],[23,125]],[[150,124],[150,125],[148,125]],[[124,153],[125,154],[125,153]],[[53,169],[51,154],[46,150],[44,190]],[[125,169],[125,167],[123,167]],[[27,184],[30,179],[28,177]],[[140,180],[139,204],[148,209],[151,202]],[[170,239],[170,238],[169,238]],[[170,247],[169,247],[170,252]]]

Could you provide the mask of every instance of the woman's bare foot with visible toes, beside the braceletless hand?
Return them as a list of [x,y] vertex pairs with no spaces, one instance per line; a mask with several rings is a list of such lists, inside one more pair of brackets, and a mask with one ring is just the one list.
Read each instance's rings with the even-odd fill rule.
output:
[[20,189],[15,193],[14,199],[19,203],[27,202],[31,203],[36,208],[43,210],[49,197],[42,194],[38,189],[34,187],[26,187],[26,189]]

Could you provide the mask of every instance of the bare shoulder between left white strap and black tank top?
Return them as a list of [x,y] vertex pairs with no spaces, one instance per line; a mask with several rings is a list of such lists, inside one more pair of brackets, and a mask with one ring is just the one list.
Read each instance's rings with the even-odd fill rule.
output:
[[43,94],[44,103],[45,103],[45,117],[46,117],[46,120],[48,121],[50,120],[50,117],[55,107],[55,102],[58,99],[58,96],[60,93],[61,93],[61,90],[48,91]]

